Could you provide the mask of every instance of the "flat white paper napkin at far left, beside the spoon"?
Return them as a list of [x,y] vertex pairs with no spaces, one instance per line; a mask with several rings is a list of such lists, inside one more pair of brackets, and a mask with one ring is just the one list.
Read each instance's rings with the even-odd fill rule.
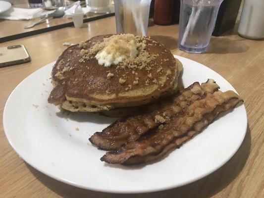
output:
[[40,16],[42,8],[25,9],[12,7],[0,14],[0,19],[7,20],[30,20]]

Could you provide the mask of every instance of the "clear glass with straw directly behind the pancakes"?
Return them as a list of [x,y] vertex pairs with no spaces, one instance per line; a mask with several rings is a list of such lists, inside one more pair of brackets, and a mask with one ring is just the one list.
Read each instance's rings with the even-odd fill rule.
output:
[[151,0],[114,0],[117,34],[147,35]]

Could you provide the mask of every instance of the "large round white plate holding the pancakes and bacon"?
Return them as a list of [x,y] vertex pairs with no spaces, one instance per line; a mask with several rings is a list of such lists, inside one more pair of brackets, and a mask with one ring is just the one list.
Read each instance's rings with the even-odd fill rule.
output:
[[[183,63],[185,87],[212,78],[222,91],[235,91],[210,68],[176,57]],[[246,134],[247,114],[245,106],[240,105],[157,163],[131,167],[108,165],[100,161],[105,151],[88,143],[88,138],[114,119],[89,113],[64,115],[48,104],[53,88],[49,80],[53,64],[34,72],[14,89],[4,108],[3,126],[9,143],[27,163],[67,184],[111,193],[179,187],[205,177],[226,163]]]

